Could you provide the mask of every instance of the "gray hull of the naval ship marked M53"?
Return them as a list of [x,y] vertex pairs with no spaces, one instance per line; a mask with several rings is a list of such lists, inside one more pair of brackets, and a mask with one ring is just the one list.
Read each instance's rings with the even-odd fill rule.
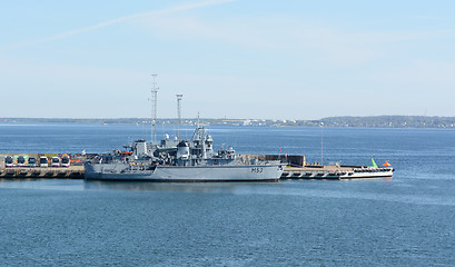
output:
[[87,180],[121,181],[278,181],[283,165],[157,166],[155,169],[126,168],[123,165],[87,165]]

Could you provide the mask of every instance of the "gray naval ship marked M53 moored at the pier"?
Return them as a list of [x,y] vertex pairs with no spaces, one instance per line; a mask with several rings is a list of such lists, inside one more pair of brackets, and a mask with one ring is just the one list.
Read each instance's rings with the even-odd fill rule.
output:
[[233,148],[214,151],[214,140],[199,123],[190,140],[159,145],[135,141],[85,165],[87,180],[137,181],[278,181],[285,164],[236,155]]

